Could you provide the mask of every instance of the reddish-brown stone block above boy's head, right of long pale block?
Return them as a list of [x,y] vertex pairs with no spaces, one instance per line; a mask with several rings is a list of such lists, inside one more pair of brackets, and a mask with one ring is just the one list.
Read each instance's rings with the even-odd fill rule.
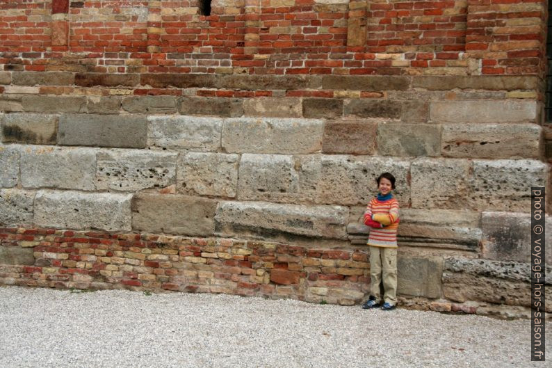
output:
[[342,154],[375,154],[376,122],[338,120],[326,122],[322,152]]

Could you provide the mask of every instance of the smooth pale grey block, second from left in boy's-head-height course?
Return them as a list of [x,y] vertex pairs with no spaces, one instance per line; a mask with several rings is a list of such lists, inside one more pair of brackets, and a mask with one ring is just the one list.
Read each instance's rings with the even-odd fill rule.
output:
[[26,146],[21,151],[21,183],[25,188],[93,191],[95,148]]

